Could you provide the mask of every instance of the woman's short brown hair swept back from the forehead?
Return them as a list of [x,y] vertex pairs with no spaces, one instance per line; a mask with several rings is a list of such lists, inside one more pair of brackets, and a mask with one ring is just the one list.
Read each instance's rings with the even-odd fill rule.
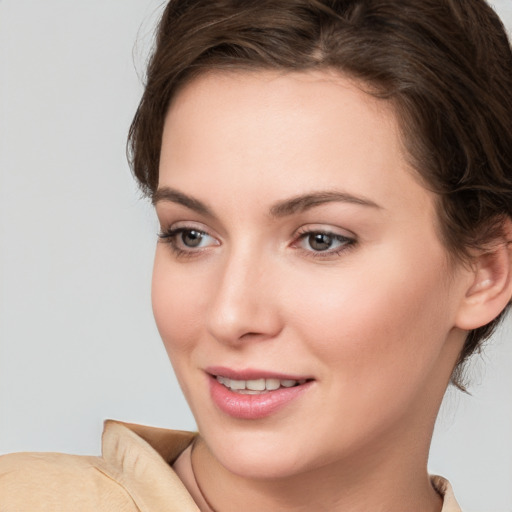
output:
[[[177,90],[228,69],[355,78],[393,102],[411,163],[438,195],[449,254],[465,258],[503,235],[512,217],[512,52],[484,0],[171,0],[128,140],[146,194],[158,186]],[[452,376],[459,388],[463,363],[504,314],[468,334]]]

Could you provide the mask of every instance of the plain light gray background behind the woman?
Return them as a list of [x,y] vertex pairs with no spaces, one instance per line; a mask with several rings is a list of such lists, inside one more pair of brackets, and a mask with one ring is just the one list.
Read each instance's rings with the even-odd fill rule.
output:
[[[493,5],[512,28],[512,0]],[[194,428],[124,154],[160,7],[0,0],[0,453],[98,453],[105,418]],[[473,373],[472,397],[448,393],[431,471],[465,512],[511,512],[510,319]]]

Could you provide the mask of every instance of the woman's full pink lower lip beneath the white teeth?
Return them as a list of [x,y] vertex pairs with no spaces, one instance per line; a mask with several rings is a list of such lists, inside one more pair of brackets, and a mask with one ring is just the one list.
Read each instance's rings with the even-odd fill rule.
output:
[[266,418],[298,398],[311,387],[312,381],[291,388],[279,388],[258,395],[245,395],[231,391],[215,377],[210,377],[213,402],[233,418],[257,420]]

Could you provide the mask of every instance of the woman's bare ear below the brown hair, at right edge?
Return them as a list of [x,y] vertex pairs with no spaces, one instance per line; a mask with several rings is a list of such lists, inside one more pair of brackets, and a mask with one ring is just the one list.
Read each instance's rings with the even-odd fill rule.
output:
[[512,297],[512,219],[503,225],[504,236],[476,255],[472,278],[457,312],[456,326],[470,331],[488,324]]

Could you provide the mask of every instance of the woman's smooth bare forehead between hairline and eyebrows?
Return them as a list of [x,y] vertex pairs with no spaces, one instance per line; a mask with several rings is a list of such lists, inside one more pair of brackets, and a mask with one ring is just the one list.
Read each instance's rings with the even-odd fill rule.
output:
[[407,164],[392,105],[329,71],[209,73],[179,92],[160,185],[207,197],[219,182],[231,197],[260,200],[340,187],[386,201],[431,199]]

